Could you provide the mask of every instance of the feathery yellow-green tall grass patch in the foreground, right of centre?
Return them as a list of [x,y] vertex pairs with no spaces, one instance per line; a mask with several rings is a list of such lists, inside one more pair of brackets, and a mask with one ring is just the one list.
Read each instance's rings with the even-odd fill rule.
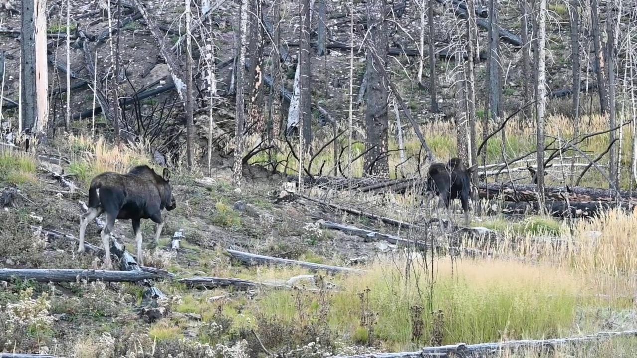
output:
[[[368,309],[378,313],[375,335],[393,349],[428,344],[429,337],[412,341],[413,305],[424,307],[424,332],[433,330],[427,308],[442,310],[443,343],[478,343],[502,339],[561,336],[573,329],[578,308],[599,301],[591,292],[591,276],[563,266],[516,261],[469,260],[454,268],[448,259],[436,264],[433,301],[427,295],[424,271],[405,279],[396,262],[380,261],[364,276],[350,276],[334,283],[341,290],[330,301],[329,326],[334,332],[355,336],[361,329],[359,292],[369,289]],[[317,302],[308,296],[310,310]],[[613,304],[606,302],[605,304]],[[250,306],[250,312],[277,317],[294,324],[294,297],[289,292],[268,292]]]

